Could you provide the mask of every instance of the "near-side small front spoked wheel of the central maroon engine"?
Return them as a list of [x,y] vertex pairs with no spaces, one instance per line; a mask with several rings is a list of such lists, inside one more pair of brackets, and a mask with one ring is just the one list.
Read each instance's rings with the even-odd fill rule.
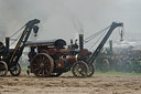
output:
[[78,61],[74,63],[72,72],[75,77],[86,77],[88,74],[88,65],[83,61]]

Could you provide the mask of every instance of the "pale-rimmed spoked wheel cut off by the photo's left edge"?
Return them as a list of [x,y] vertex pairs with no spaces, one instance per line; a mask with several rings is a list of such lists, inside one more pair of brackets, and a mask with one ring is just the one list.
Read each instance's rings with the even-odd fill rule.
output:
[[0,76],[6,76],[8,73],[8,65],[6,62],[0,61]]

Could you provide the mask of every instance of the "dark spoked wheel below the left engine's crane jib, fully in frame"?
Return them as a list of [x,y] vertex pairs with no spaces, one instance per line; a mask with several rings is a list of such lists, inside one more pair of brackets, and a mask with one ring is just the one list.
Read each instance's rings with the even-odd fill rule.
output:
[[10,74],[12,76],[19,76],[21,74],[21,64],[17,63],[14,66],[10,67]]

